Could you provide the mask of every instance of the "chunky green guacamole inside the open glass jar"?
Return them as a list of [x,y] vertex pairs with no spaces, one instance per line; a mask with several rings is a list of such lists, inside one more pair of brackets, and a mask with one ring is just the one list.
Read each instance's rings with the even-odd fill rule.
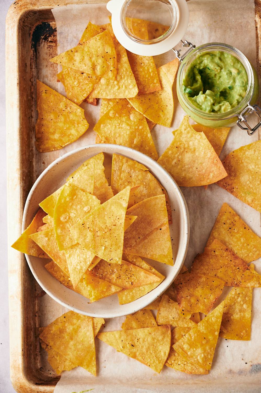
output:
[[205,52],[188,66],[183,92],[207,113],[224,113],[245,97],[248,78],[243,64],[222,51]]

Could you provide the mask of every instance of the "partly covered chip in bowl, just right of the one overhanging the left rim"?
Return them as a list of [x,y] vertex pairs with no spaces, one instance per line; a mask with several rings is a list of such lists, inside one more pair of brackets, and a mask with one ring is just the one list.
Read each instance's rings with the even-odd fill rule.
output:
[[69,273],[66,257],[63,251],[59,251],[57,241],[55,238],[55,231],[53,228],[48,229],[47,231],[33,233],[29,236],[39,247],[41,247],[47,255],[55,263],[60,266],[64,272]]

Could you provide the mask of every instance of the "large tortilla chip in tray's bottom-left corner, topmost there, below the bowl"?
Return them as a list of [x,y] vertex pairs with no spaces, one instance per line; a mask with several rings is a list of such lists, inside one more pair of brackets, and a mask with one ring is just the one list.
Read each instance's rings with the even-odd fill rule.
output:
[[96,375],[93,318],[66,312],[45,327],[40,339],[68,360]]

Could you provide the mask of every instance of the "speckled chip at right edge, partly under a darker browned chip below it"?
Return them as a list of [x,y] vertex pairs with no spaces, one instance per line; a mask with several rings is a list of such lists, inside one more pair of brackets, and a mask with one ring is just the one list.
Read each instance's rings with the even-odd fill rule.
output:
[[227,204],[223,203],[206,244],[217,239],[246,263],[261,257],[261,238]]

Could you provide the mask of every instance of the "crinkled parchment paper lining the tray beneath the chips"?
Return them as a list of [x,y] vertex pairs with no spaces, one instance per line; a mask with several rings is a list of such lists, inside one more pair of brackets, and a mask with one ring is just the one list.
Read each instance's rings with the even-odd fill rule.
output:
[[[185,39],[200,45],[206,42],[224,42],[237,47],[256,66],[256,32],[254,0],[190,0],[188,2],[190,22]],[[105,4],[68,5],[52,10],[57,24],[58,53],[77,45],[88,21],[95,24],[108,22],[109,15]],[[170,51],[155,57],[157,66],[171,61],[174,55]],[[64,94],[62,84],[59,89]],[[174,87],[175,90],[175,87]],[[177,99],[176,99],[177,102]],[[90,127],[86,134],[72,145],[63,149],[63,153],[89,143],[95,143],[93,126],[99,119],[99,106],[82,104],[86,110],[86,118]],[[184,116],[180,105],[177,105],[171,128],[156,125],[152,136],[159,155],[172,141],[172,130],[175,130]],[[258,139],[258,135],[250,137],[237,126],[230,131],[221,152],[221,160],[232,150]],[[217,185],[204,187],[182,187],[190,213],[190,243],[185,264],[189,267],[193,257],[203,252],[204,246],[223,202],[227,202],[239,213],[243,220],[259,236],[260,215],[234,196]],[[256,262],[256,270],[261,273],[261,263]],[[125,393],[169,391],[185,392],[223,391],[223,382],[232,382],[232,391],[241,391],[237,383],[254,380],[261,371],[260,325],[261,288],[255,288],[253,300],[252,336],[251,341],[232,341],[219,338],[215,351],[212,370],[206,376],[189,376],[168,367],[164,367],[160,375],[145,365],[128,358],[122,353],[96,340],[97,373],[93,377],[78,367],[62,376],[55,393],[71,393],[94,389],[96,393]],[[65,312],[66,309],[63,309]],[[59,315],[56,315],[58,317]],[[53,318],[52,318],[53,320]],[[107,320],[104,331],[119,330],[124,318]],[[160,343],[159,343],[160,345]],[[259,374],[260,375],[260,374]],[[254,378],[254,379],[253,379]],[[256,379],[255,379],[256,380]],[[210,386],[211,385],[211,386]],[[249,385],[248,385],[249,386]],[[254,385],[247,391],[259,391]]]

